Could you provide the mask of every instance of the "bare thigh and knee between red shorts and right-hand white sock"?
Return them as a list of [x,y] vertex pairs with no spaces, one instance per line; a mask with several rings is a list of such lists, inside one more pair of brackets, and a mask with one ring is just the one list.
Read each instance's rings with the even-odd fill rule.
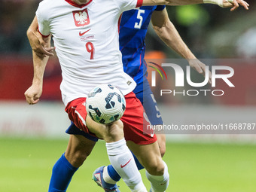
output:
[[148,145],[138,145],[127,141],[127,146],[150,174],[163,175],[164,165],[157,142]]

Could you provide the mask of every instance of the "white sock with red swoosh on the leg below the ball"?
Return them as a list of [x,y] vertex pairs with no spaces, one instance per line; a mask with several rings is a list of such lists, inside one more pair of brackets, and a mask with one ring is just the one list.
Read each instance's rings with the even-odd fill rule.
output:
[[117,173],[133,192],[147,192],[142,176],[136,166],[133,154],[126,146],[126,141],[106,143],[108,158]]

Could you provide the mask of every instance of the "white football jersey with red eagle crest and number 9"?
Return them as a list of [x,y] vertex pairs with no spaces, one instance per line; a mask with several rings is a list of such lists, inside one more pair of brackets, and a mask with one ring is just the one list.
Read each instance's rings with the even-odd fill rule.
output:
[[123,11],[140,6],[141,0],[44,0],[36,16],[42,35],[53,35],[62,69],[60,90],[65,105],[87,97],[98,84],[112,84],[124,95],[136,82],[123,72],[118,41],[118,20]]

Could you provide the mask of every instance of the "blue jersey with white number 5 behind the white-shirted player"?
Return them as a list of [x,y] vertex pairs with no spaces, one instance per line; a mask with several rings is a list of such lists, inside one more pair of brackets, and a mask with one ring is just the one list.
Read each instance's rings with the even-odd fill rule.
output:
[[136,81],[143,82],[147,66],[145,56],[145,36],[153,11],[162,11],[164,5],[142,6],[124,11],[120,20],[119,43],[123,58],[123,70]]

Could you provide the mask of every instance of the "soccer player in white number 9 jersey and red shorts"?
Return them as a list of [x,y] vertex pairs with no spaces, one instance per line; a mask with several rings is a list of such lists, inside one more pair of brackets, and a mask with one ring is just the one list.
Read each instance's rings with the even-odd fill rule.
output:
[[[121,11],[135,8],[135,5],[138,5],[138,2],[105,1],[104,3],[99,3],[96,0],[89,1],[86,4],[83,4],[83,1],[73,2],[69,0],[66,0],[66,2],[64,0],[49,2],[50,1],[45,0],[41,3],[41,7],[39,6],[37,11],[39,32],[41,32],[48,41],[49,37],[47,38],[47,35],[52,33],[54,36],[56,53],[62,66],[62,99],[66,104],[66,111],[69,113],[69,118],[74,121],[76,126],[85,132],[105,139],[111,163],[132,191],[146,191],[138,170],[136,170],[136,167],[134,166],[135,163],[133,157],[127,150],[123,140],[122,126],[124,124],[124,130],[130,132],[133,124],[129,121],[132,119],[130,119],[130,117],[124,117],[123,124],[120,123],[120,121],[117,121],[111,126],[102,126],[93,122],[93,120],[86,115],[87,113],[83,105],[87,92],[94,87],[94,85],[108,83],[114,84],[120,88],[120,90],[126,94],[126,100],[128,100],[127,103],[130,107],[135,107],[136,99],[134,98],[133,93],[130,93],[130,91],[133,90],[134,82],[131,78],[127,77],[128,75],[125,75],[123,71],[120,70],[122,69],[122,65],[117,46],[117,33],[115,33],[117,32],[117,25],[114,25],[114,23],[117,24]],[[148,2],[146,5],[154,5],[153,2],[147,0],[145,2]],[[193,1],[190,1],[189,3],[191,2]],[[195,2],[198,3],[199,1]],[[72,7],[65,3],[69,3]],[[175,2],[175,4],[177,4],[177,2]],[[105,9],[100,8],[100,5]],[[234,6],[234,8],[235,7],[236,6]],[[66,17],[68,15],[69,17]],[[110,21],[110,23],[102,23],[102,21]],[[70,23],[70,25],[66,26],[66,23]],[[71,23],[77,28],[73,27],[72,29]],[[81,29],[86,30],[81,32]],[[114,34],[112,34],[113,31]],[[85,33],[87,34],[84,36]],[[81,47],[85,47],[87,55],[84,52],[82,53]],[[99,55],[96,53],[99,53]],[[41,57],[38,57],[35,52],[33,53],[33,56],[35,68],[34,79],[32,87],[29,87],[29,90],[26,91],[26,99],[29,104],[35,104],[41,96],[42,75],[47,62],[47,58],[42,59]],[[111,70],[108,70],[105,66],[110,66]],[[114,73],[114,75],[111,73],[113,69],[114,72],[117,72]],[[111,79],[109,80],[109,78]],[[126,112],[126,116],[127,114],[133,115],[133,120],[138,120],[137,123],[140,123],[141,126],[139,129],[143,130],[143,110],[141,105],[137,105],[136,108],[138,109],[137,114],[139,114],[137,117],[131,110]],[[80,118],[81,116],[82,118]],[[86,121],[86,124],[84,121]],[[110,134],[109,130],[113,131],[114,134]],[[128,133],[128,135],[129,134],[131,133]],[[138,155],[138,157],[141,157],[143,161],[143,158],[145,158],[142,157],[143,151],[150,145],[150,149],[153,153],[145,154],[145,156],[155,157],[153,162],[152,160],[150,162],[155,164],[148,166],[148,169],[147,166],[145,167],[148,172],[154,172],[154,169],[158,169],[158,174],[163,178],[163,187],[166,187],[168,185],[169,175],[166,171],[167,167],[165,163],[160,160],[159,151],[157,152],[158,148],[155,136],[153,138],[150,136],[148,136],[148,138],[142,137],[142,139],[145,139],[147,142],[145,142],[145,140],[139,141],[141,144],[144,142],[144,144],[148,145],[138,146],[139,142],[137,139],[139,140],[139,137],[136,138],[136,141],[128,138],[128,140],[134,142],[130,143],[130,148],[136,155]],[[136,142],[137,144],[135,144]],[[89,143],[89,153],[93,146],[93,143]],[[144,149],[141,148],[142,146]],[[124,158],[122,162],[118,161],[119,157]],[[122,168],[120,165],[126,166],[123,166]],[[165,189],[161,189],[159,191],[164,190]]]

